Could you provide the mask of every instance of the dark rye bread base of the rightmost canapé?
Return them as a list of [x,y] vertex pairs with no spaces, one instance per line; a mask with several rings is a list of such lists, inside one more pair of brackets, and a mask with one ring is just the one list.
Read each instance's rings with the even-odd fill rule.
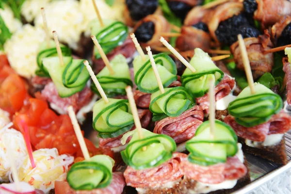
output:
[[245,139],[241,137],[239,137],[239,142],[242,144],[242,150],[245,153],[259,156],[278,164],[288,163],[284,137],[281,142],[275,146],[250,147],[245,144]]

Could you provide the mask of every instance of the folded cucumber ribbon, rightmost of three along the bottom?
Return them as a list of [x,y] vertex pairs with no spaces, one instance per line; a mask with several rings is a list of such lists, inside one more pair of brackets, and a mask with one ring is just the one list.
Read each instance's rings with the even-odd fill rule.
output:
[[215,120],[214,135],[211,136],[210,122],[205,121],[195,136],[186,142],[186,149],[190,152],[188,161],[203,166],[226,162],[227,157],[237,153],[237,143],[238,137],[229,125]]

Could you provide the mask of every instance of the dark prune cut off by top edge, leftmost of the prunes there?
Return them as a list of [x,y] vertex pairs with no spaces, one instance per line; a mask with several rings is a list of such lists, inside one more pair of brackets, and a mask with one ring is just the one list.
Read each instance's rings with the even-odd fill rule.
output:
[[125,3],[130,17],[135,21],[153,14],[159,5],[158,0],[126,0]]

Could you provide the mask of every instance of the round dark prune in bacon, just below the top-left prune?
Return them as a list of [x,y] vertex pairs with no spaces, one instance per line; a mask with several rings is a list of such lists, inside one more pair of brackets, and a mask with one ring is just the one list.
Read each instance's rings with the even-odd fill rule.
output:
[[155,33],[155,24],[154,22],[151,22],[151,21],[143,23],[134,32],[136,39],[139,42],[143,42],[143,43],[146,43],[147,41],[152,39],[154,33]]

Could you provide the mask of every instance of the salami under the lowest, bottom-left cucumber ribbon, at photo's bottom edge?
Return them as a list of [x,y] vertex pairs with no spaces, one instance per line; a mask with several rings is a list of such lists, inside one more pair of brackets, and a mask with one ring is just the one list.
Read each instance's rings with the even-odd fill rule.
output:
[[102,189],[90,191],[75,191],[66,181],[55,181],[55,194],[121,194],[125,187],[125,179],[120,172],[112,173],[110,185]]

